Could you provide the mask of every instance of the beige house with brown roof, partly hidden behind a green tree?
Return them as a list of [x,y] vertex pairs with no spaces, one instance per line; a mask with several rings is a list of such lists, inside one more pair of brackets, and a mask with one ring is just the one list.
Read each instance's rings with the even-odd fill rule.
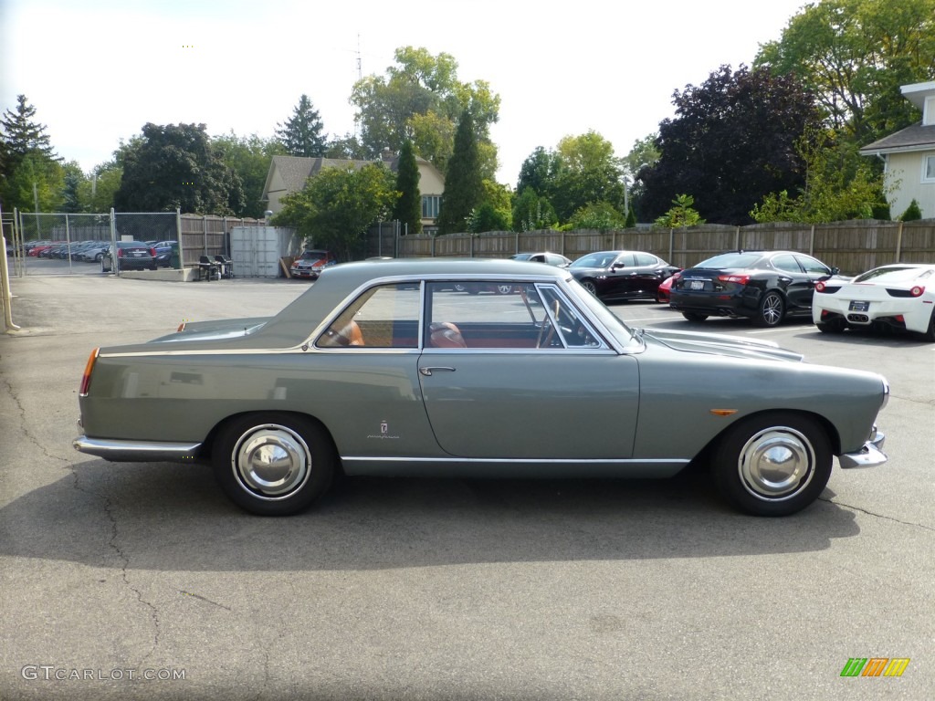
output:
[[[365,165],[382,163],[394,173],[399,167],[399,156],[386,152],[378,161],[349,161],[338,158],[304,158],[300,156],[273,156],[266,174],[263,188],[263,200],[266,209],[276,214],[281,211],[281,199],[288,193],[295,193],[305,187],[309,178],[314,178],[324,168],[354,168],[359,170]],[[424,233],[438,229],[441,195],[445,192],[445,179],[435,165],[424,158],[416,158],[419,167],[419,193],[422,194],[422,227]]]

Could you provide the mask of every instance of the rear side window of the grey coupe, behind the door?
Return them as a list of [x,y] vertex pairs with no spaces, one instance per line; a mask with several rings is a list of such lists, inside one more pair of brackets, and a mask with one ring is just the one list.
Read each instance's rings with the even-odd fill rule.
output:
[[319,348],[418,348],[419,285],[371,287],[319,336]]

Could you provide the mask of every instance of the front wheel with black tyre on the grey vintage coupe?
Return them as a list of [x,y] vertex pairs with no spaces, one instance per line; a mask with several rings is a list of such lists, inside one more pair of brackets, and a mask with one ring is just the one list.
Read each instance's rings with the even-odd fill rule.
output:
[[812,504],[831,477],[831,465],[825,430],[791,412],[741,420],[712,453],[721,494],[755,516],[787,516]]

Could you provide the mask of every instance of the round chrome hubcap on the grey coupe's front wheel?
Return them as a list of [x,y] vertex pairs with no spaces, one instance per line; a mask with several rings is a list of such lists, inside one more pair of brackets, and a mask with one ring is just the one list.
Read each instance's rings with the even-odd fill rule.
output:
[[737,467],[747,492],[765,501],[783,501],[812,481],[814,463],[808,438],[793,428],[774,426],[746,442]]

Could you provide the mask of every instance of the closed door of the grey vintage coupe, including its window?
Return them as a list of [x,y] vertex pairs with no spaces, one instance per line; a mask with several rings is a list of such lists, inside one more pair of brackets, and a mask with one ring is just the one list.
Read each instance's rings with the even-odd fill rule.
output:
[[479,460],[631,457],[636,360],[554,286],[515,285],[522,293],[426,294],[427,326],[444,333],[425,338],[419,379],[441,449]]

